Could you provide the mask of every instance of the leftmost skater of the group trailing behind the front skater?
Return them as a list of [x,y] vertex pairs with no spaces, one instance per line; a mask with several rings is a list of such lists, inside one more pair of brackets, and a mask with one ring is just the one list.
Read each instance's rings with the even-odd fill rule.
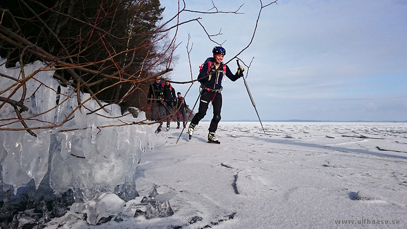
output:
[[154,83],[150,84],[147,100],[148,106],[151,106],[151,120],[160,122],[157,128],[157,132],[160,132],[165,113],[164,84],[161,82],[161,77],[157,77]]

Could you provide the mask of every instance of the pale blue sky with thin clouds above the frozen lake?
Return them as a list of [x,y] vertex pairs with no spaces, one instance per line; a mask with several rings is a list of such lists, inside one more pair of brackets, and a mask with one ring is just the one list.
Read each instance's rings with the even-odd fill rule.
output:
[[[201,17],[209,34],[226,49],[229,61],[252,37],[260,1],[216,1],[220,11],[244,14],[181,14],[180,21]],[[271,1],[262,1],[263,5]],[[279,0],[261,12],[253,43],[239,55],[249,65],[247,83],[262,120],[405,121],[407,120],[407,1]],[[181,2],[182,4],[182,2]],[[177,1],[161,0],[164,20],[177,12]],[[186,1],[186,9],[208,11],[212,2]],[[213,12],[211,10],[209,12]],[[170,23],[175,24],[176,21]],[[175,31],[170,32],[170,38]],[[212,55],[210,41],[197,22],[179,27],[179,61],[173,81],[191,79]],[[236,61],[228,66],[236,71]],[[222,120],[257,120],[243,80],[226,80]],[[189,84],[173,84],[183,95]],[[193,105],[195,83],[186,95]],[[196,108],[197,110],[197,108]],[[205,120],[212,118],[208,110]]]

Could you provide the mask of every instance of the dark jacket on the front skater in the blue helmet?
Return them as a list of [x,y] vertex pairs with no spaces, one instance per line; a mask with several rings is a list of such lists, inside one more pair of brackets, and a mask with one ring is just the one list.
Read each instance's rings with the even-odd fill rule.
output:
[[[220,89],[222,87],[222,79],[223,79],[223,62],[220,63],[218,70],[216,70],[215,65],[213,64],[212,61],[211,62],[211,68],[209,70],[209,73],[212,72],[212,74],[210,76],[207,76],[208,74],[208,62],[206,62],[205,64],[203,64],[202,69],[199,72],[198,75],[198,81],[200,83],[203,84],[203,86],[209,88],[209,89]],[[236,81],[238,80],[242,75],[238,75],[238,74],[233,74],[229,67],[227,67],[226,65],[226,69],[225,69],[225,74],[226,77],[229,78],[231,81]],[[205,77],[207,76],[207,77]]]

